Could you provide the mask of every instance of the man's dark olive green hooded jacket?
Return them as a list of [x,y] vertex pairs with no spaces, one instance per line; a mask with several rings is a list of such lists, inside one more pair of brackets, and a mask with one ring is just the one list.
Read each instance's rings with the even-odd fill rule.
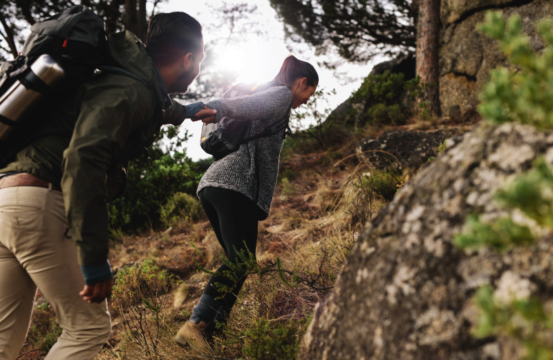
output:
[[[181,111],[176,120],[164,121],[163,111],[171,100],[156,65],[135,35],[111,35],[108,48],[117,66],[151,85],[120,73],[94,75],[68,96],[61,109],[58,106],[44,115],[37,111],[36,116],[44,118],[29,136],[38,140],[0,169],[0,173],[28,172],[61,186],[69,233],[77,242],[79,264],[84,268],[105,268],[107,263],[106,202],[113,195],[112,180],[153,141],[161,125],[179,125],[185,116]],[[87,279],[83,272],[87,283],[105,280]]]

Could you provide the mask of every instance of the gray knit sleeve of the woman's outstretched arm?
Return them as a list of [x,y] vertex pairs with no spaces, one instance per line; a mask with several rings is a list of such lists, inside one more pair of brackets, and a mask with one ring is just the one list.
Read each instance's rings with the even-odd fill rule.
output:
[[242,121],[270,121],[288,112],[292,98],[288,87],[271,87],[252,95],[213,100],[206,105],[217,110],[217,122],[225,116]]

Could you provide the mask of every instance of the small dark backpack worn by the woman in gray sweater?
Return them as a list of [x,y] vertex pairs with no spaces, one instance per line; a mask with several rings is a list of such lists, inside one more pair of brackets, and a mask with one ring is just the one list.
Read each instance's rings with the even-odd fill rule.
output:
[[[251,95],[252,93],[263,91],[273,86],[278,85],[271,84],[270,82],[256,84],[254,87],[247,84],[237,84],[227,90],[221,98],[225,99],[234,98],[235,96]],[[290,107],[292,107],[292,104],[290,104]],[[242,144],[255,140],[256,138],[270,136],[282,129],[286,129],[284,132],[284,137],[286,137],[286,135],[290,133],[288,116],[286,115],[287,114],[285,114],[283,118],[268,125],[263,132],[248,137],[245,137],[245,134],[250,127],[249,121],[234,120],[224,116],[218,123],[203,125],[200,146],[207,154],[213,155],[215,160],[219,160],[238,150],[238,147]]]

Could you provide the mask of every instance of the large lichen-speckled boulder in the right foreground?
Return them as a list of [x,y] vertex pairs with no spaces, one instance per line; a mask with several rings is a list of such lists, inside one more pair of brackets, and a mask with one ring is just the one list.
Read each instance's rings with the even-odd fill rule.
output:
[[515,286],[551,308],[551,233],[505,253],[465,252],[451,240],[471,213],[509,213],[494,193],[541,154],[553,163],[552,134],[482,125],[418,172],[355,244],[298,359],[521,359],[521,345],[506,336],[471,335],[472,297],[482,285]]

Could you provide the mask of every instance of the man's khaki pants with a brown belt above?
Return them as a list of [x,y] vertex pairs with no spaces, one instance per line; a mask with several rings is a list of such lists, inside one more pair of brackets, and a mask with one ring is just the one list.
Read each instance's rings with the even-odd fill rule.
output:
[[0,360],[19,354],[37,287],[63,329],[46,359],[93,359],[109,338],[107,303],[88,304],[79,296],[84,280],[66,227],[61,192],[0,189]]

